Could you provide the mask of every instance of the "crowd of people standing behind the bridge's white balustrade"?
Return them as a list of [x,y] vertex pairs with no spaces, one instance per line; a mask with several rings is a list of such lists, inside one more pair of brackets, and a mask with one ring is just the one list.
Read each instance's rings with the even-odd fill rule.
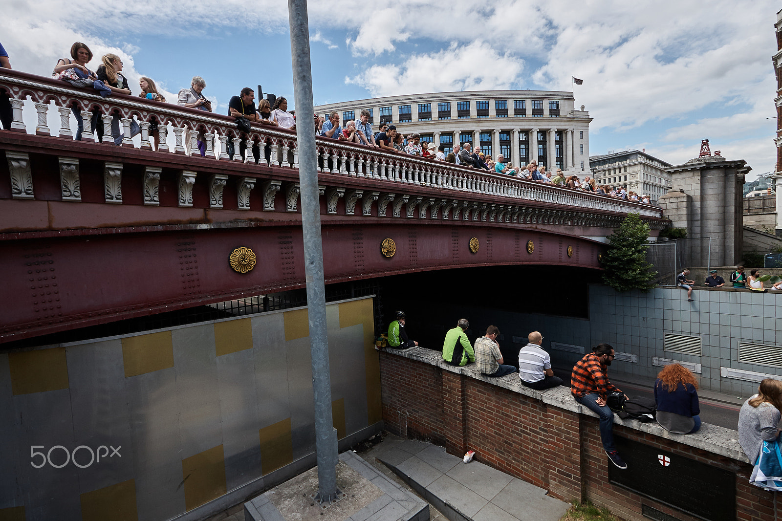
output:
[[[52,77],[66,81],[76,88],[88,88],[104,97],[113,94],[131,95],[131,87],[127,83],[127,77],[122,74],[123,63],[119,56],[106,54],[101,57],[100,65],[93,71],[88,67],[93,56],[88,45],[77,41],[70,48],[70,57],[59,59],[52,70]],[[0,66],[11,68],[8,53],[0,45]],[[155,81],[149,77],[142,77],[138,84],[138,96],[142,99],[166,103],[167,99],[158,92]],[[203,94],[206,88],[206,81],[203,77],[194,76],[190,88],[181,88],[177,96],[177,104],[189,109],[203,110],[212,112],[212,104],[206,95]],[[0,120],[3,128],[11,128],[12,112],[10,103],[0,92]],[[84,132],[84,121],[82,120],[81,110],[73,107],[74,119],[77,122],[77,132],[75,138],[81,140]],[[250,123],[261,125],[270,125],[278,128],[296,129],[296,113],[288,110],[288,101],[284,97],[274,99],[273,105],[267,99],[260,99],[256,106],[255,92],[252,88],[242,88],[239,95],[235,95],[228,102],[228,116],[234,117],[239,131],[248,133]],[[508,162],[503,154],[497,154],[496,160],[489,154],[481,152],[479,146],[473,149],[469,142],[455,143],[453,151],[446,154],[447,146],[441,144],[437,146],[433,142],[421,141],[418,134],[403,135],[398,131],[395,125],[381,123],[378,131],[372,130],[370,123],[371,115],[368,110],[361,110],[358,120],[345,122],[345,127],[340,125],[339,113],[332,112],[328,120],[325,117],[314,117],[316,134],[322,138],[331,138],[344,142],[351,142],[358,145],[368,146],[371,149],[385,153],[408,154],[419,156],[429,160],[439,160],[447,163],[454,163],[462,167],[475,168],[494,174],[505,174],[511,177],[522,178],[527,181],[540,183],[550,183],[563,188],[581,190],[583,192],[594,193],[598,196],[614,197],[625,199],[638,203],[649,204],[648,196],[639,195],[632,191],[627,191],[622,186],[597,185],[594,179],[589,176],[583,179],[578,175],[565,175],[561,168],[555,172],[547,171],[543,165],[538,165],[536,160],[532,160],[526,165],[515,167]],[[131,138],[141,132],[139,124],[131,120]],[[97,138],[102,140],[104,128],[101,120],[101,113],[96,108],[91,115],[91,128]],[[114,114],[111,121],[111,133],[113,142],[120,146],[124,139],[124,129],[119,114]],[[158,144],[159,134],[157,131],[157,122],[152,122],[149,128],[149,134],[155,146]],[[202,156],[206,155],[206,140],[203,133],[199,134],[197,146]],[[245,153],[246,145],[242,141],[240,151]],[[228,154],[233,156],[234,144],[229,140]],[[260,159],[260,153],[257,146],[253,146],[253,155],[256,162]]]

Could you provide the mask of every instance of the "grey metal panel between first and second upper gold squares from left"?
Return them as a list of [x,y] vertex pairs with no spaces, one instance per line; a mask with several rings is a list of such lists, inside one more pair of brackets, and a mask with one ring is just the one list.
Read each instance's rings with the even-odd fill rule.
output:
[[[66,347],[70,404],[73,409],[76,445],[93,451],[103,445],[108,456],[86,469],[78,469],[79,489],[89,492],[130,480],[133,475],[131,422],[127,411],[122,341],[106,340]],[[121,447],[120,456],[109,447]],[[89,451],[77,452],[78,462],[86,465]]]

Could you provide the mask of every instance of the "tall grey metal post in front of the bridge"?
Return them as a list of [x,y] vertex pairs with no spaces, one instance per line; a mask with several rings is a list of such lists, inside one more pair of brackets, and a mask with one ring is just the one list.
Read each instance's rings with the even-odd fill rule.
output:
[[338,490],[337,436],[332,421],[332,388],[328,369],[326,291],[323,275],[321,207],[317,189],[310,66],[310,23],[307,0],[288,0],[293,62],[293,92],[296,100],[296,137],[299,147],[299,182],[304,235],[304,270],[307,275],[307,308],[312,352],[312,389],[315,400],[315,445],[317,450],[317,500],[334,501]]

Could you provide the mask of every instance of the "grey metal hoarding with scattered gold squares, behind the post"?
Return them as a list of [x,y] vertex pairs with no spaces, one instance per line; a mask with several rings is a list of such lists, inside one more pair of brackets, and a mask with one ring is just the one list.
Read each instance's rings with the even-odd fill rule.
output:
[[[372,298],[326,314],[344,448],[382,426]],[[204,519],[287,480],[310,364],[307,308],[0,353],[0,519]]]

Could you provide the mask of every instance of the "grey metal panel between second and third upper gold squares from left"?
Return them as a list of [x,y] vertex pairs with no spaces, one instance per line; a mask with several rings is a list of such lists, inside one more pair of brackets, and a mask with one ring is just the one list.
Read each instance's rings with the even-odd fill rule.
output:
[[223,443],[214,326],[174,329],[171,340],[177,372],[180,451],[184,459]]

